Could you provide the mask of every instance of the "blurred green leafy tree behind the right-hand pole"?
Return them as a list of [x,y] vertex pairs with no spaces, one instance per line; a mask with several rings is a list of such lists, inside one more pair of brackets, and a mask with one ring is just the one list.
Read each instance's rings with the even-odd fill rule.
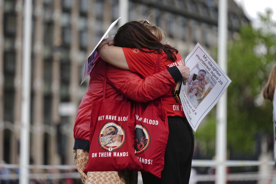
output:
[[[272,135],[272,104],[262,98],[262,89],[276,61],[276,24],[272,11],[259,15],[260,26],[241,27],[228,44],[227,144],[232,154],[253,153],[255,134]],[[214,111],[196,132],[196,140],[214,153]]]

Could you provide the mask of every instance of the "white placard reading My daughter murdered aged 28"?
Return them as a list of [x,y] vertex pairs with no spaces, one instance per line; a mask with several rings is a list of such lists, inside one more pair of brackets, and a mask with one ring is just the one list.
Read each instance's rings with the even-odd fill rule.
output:
[[199,43],[185,58],[185,65],[190,68],[191,82],[188,84],[188,80],[185,86],[182,83],[180,99],[186,118],[196,131],[232,81]]

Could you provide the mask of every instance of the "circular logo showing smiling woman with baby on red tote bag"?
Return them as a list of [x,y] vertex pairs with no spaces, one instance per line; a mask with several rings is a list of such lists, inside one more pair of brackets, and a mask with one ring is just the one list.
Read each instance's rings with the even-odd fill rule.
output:
[[106,151],[118,150],[125,141],[123,127],[115,121],[106,122],[99,132],[99,145]]

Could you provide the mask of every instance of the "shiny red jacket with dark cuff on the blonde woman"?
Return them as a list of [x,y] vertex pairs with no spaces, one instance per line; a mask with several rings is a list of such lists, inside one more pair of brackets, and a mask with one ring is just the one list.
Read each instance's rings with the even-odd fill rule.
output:
[[[106,62],[101,60],[90,74],[89,87],[78,108],[74,125],[74,138],[89,141],[91,102],[103,98],[103,81]],[[168,68],[142,79],[139,74],[108,65],[106,98],[123,100],[128,97],[134,101],[147,102],[170,91],[182,75],[175,68]],[[75,141],[74,149],[84,149]],[[87,150],[87,149],[84,149]]]

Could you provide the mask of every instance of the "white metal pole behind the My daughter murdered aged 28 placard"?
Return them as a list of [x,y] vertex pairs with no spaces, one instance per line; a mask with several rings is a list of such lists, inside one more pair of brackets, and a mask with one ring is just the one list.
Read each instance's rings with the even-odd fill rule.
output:
[[[227,73],[227,0],[218,2],[218,65]],[[226,183],[227,91],[216,106],[216,184]]]

